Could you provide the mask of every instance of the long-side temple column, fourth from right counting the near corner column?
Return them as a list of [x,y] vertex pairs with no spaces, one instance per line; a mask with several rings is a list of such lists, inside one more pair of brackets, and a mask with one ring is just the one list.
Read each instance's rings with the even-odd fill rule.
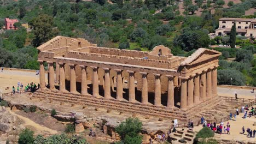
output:
[[148,80],[147,80],[147,73],[140,72],[142,75],[142,93],[141,93],[141,103],[147,104],[148,103]]

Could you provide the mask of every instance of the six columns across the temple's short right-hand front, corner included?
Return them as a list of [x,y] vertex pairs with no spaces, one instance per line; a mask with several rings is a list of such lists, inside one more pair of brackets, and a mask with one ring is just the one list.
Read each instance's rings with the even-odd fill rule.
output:
[[181,79],[181,109],[217,95],[217,67]]

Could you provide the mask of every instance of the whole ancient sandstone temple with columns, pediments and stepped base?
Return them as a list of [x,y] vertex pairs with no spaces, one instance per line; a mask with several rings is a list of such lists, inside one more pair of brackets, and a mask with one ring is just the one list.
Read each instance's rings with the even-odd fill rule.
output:
[[34,97],[184,120],[219,100],[218,51],[178,57],[163,45],[119,50],[61,36],[37,49],[41,91]]

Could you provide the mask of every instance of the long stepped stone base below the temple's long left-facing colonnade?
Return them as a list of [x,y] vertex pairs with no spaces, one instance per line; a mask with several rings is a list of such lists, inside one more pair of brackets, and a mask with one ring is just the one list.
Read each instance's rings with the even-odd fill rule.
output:
[[96,98],[91,95],[80,95],[72,93],[61,93],[59,91],[36,91],[32,97],[43,100],[54,100],[64,103],[89,105],[102,107],[104,109],[112,109],[129,113],[139,113],[144,116],[154,116],[162,118],[177,118],[180,120],[187,119],[187,113],[178,109],[166,109],[165,106],[141,105],[136,103],[127,103],[127,101],[118,101],[115,99]]

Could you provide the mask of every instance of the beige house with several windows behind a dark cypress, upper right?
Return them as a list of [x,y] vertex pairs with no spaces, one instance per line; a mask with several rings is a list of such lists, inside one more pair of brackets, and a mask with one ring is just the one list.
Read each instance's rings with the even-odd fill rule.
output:
[[221,18],[219,19],[219,28],[215,31],[216,35],[229,35],[235,22],[237,35],[256,38],[256,19]]

